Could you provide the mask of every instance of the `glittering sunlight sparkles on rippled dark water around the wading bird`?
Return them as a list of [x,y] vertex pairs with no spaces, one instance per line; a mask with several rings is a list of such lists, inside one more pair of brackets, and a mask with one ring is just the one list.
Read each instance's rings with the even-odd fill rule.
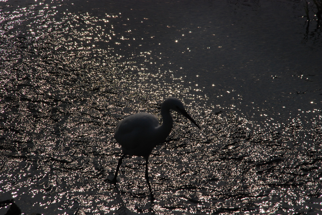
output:
[[203,130],[173,114],[171,135],[150,158],[153,213],[322,209],[320,114],[258,123],[239,107],[209,105],[202,85],[166,69],[171,60],[142,42],[153,35],[133,39],[122,14],[70,12],[59,1],[4,5],[0,201],[14,199],[26,214],[151,212],[140,157],[125,159],[116,186],[104,182],[120,156],[112,135],[126,115],[160,118],[163,99],[176,96]]

